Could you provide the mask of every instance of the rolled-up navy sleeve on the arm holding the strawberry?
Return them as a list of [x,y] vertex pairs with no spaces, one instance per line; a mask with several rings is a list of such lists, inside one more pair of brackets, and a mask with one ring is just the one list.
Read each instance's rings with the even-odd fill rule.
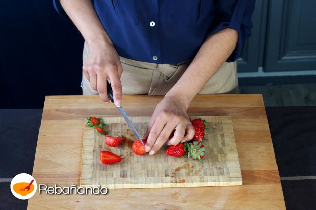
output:
[[251,36],[251,16],[255,7],[255,0],[219,0],[215,3],[216,16],[209,29],[208,36],[226,28],[238,31],[238,42],[227,62],[237,60],[244,48],[245,40]]

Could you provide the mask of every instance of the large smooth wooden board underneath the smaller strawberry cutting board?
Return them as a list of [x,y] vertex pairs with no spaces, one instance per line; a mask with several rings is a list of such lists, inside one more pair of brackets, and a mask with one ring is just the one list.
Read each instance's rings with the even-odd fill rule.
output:
[[[160,96],[123,96],[130,116],[151,116]],[[28,209],[285,209],[261,95],[198,95],[191,116],[231,116],[242,186],[110,189],[107,195],[35,194]],[[120,117],[99,96],[47,96],[35,155],[37,183],[80,183],[83,118]]]

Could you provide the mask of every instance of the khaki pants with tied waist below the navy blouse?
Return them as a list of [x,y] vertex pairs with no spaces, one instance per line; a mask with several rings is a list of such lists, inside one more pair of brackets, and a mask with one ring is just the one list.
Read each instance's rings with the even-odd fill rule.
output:
[[[89,48],[85,43],[83,63],[88,55]],[[121,75],[123,95],[165,95],[190,64],[190,62],[183,62],[178,65],[155,64],[123,57],[120,57],[120,59],[123,67]],[[83,95],[98,95],[98,92],[91,88],[84,74],[81,86]],[[220,93],[238,93],[236,62],[224,63],[199,92],[199,94]]]

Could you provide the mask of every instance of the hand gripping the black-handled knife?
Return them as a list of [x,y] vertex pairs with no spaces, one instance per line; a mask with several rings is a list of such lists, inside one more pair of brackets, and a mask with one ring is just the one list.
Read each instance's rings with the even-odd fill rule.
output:
[[98,91],[101,100],[109,103],[107,96],[106,80],[111,81],[114,104],[122,104],[122,85],[120,77],[122,65],[119,54],[112,43],[97,41],[89,43],[89,56],[83,65],[83,72],[90,82],[91,88]]

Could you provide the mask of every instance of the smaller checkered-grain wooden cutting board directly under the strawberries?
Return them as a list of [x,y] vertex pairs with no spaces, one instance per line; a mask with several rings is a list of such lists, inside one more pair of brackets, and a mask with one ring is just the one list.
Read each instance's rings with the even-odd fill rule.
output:
[[[206,153],[204,164],[198,160],[167,156],[164,145],[153,156],[136,155],[131,146],[136,139],[121,117],[103,118],[107,135],[124,136],[118,147],[107,146],[104,136],[84,126],[81,186],[119,188],[200,187],[242,185],[242,176],[230,116],[192,116],[207,122],[205,129]],[[131,117],[141,136],[144,135],[150,117]],[[86,124],[86,119],[85,119]],[[109,150],[120,155],[122,161],[104,165],[100,151]]]

